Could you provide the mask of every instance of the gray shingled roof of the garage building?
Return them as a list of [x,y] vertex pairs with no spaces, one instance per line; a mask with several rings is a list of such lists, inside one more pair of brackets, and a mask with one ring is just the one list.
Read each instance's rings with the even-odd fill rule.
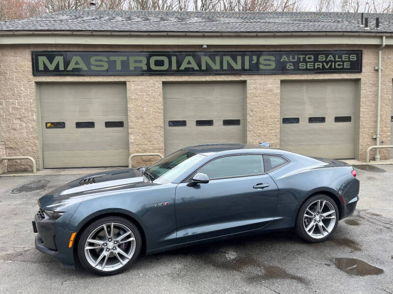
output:
[[[393,32],[393,14],[346,12],[196,12],[63,10],[30,19],[0,22],[0,31],[124,32]],[[375,18],[380,29],[375,29]]]

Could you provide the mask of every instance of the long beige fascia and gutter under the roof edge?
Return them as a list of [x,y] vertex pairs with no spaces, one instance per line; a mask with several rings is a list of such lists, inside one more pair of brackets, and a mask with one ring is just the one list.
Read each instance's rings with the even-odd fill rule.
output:
[[382,32],[113,32],[0,31],[0,45],[127,45],[127,46],[294,46],[393,45],[393,33]]

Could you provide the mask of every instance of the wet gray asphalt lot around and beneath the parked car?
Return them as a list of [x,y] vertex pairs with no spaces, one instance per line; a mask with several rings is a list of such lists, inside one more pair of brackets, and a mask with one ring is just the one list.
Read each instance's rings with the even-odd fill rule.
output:
[[37,198],[79,175],[0,177],[0,293],[393,293],[393,165],[356,171],[358,209],[328,242],[233,239],[143,256],[111,277],[61,270],[34,249]]

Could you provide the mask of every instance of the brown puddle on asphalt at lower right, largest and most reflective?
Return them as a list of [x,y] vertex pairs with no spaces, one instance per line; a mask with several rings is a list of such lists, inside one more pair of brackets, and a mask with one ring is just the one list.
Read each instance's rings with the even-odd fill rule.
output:
[[350,275],[377,275],[384,273],[384,270],[374,267],[363,260],[354,258],[336,258],[335,265],[338,269]]

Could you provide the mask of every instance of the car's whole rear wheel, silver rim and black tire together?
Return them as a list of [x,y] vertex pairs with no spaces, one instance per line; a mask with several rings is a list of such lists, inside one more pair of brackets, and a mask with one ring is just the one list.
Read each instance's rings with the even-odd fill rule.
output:
[[317,243],[328,239],[337,223],[337,204],[331,197],[319,194],[307,199],[300,207],[295,229],[300,238]]

